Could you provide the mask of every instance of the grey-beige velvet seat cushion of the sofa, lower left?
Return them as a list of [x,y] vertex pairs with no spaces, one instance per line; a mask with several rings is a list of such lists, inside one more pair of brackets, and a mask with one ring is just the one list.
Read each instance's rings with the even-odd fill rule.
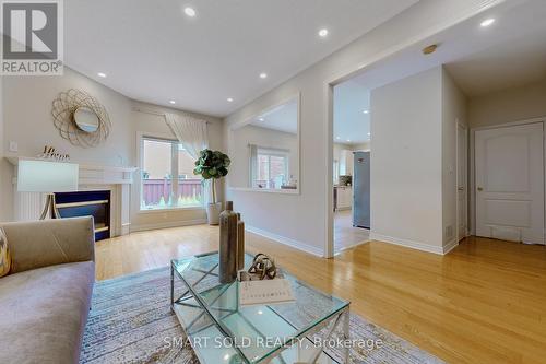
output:
[[0,279],[0,363],[78,363],[95,266],[57,265]]

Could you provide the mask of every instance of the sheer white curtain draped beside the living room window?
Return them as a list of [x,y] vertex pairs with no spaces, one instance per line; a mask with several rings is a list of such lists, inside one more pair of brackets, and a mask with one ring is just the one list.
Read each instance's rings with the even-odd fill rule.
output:
[[[181,116],[176,114],[165,114],[165,120],[175,137],[182,143],[183,149],[186,149],[188,154],[195,161],[199,157],[199,152],[209,148],[206,121],[189,115]],[[204,184],[203,197],[205,203],[212,200],[210,180],[206,180]]]

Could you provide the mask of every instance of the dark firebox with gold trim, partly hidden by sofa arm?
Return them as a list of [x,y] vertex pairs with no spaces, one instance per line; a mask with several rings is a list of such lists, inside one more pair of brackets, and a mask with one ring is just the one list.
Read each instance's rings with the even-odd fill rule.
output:
[[57,210],[61,218],[93,216],[95,240],[110,237],[110,191],[56,192]]

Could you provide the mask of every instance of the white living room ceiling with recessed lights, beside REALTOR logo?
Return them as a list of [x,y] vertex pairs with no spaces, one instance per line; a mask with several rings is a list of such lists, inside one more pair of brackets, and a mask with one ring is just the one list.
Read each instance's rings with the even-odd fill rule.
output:
[[131,98],[226,116],[415,2],[70,0],[64,58]]

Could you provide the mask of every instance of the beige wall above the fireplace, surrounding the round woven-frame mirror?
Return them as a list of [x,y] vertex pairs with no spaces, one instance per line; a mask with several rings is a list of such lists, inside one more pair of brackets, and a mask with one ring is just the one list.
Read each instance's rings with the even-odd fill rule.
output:
[[[54,126],[51,103],[61,91],[78,89],[94,95],[109,113],[111,133],[102,145],[93,149],[78,148],[62,139]],[[68,153],[74,162],[105,165],[134,165],[134,138],[131,130],[131,101],[78,72],[64,68],[62,77],[7,77],[3,81],[4,156],[36,156],[44,145],[52,145]],[[19,144],[19,152],[8,151],[9,142]],[[13,166],[2,165],[4,176],[13,175]],[[9,196],[4,220],[13,220],[13,188],[3,186]]]

